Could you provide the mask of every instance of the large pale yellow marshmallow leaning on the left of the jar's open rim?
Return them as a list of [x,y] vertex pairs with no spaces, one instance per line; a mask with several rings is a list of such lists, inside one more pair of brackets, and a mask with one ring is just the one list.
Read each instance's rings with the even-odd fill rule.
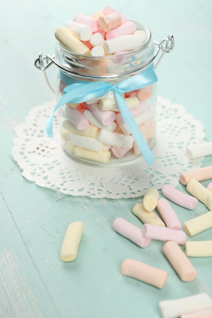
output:
[[55,31],[55,38],[68,50],[78,53],[89,55],[90,50],[78,38],[76,38],[72,31],[66,26],[59,26]]

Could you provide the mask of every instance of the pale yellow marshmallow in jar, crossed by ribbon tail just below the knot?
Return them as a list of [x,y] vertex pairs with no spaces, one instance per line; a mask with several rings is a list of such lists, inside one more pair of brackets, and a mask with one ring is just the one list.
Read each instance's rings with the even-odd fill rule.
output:
[[[129,109],[135,109],[139,106],[138,97],[128,97],[124,99]],[[120,112],[119,106],[114,99],[103,98],[100,100],[99,108],[103,111],[113,110],[114,112]]]

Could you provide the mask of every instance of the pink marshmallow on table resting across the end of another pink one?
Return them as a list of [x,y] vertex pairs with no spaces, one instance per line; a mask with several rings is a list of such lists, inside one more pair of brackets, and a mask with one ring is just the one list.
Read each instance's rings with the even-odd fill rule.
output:
[[179,245],[184,245],[186,242],[185,232],[169,229],[168,227],[144,224],[142,231],[145,238],[156,239],[159,241],[174,241]]

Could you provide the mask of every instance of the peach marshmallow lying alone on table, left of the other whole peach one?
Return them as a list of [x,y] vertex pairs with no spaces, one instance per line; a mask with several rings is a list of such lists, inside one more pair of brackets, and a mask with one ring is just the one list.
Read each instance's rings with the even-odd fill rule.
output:
[[135,259],[125,259],[121,265],[121,273],[160,289],[165,286],[168,279],[168,273],[166,271]]

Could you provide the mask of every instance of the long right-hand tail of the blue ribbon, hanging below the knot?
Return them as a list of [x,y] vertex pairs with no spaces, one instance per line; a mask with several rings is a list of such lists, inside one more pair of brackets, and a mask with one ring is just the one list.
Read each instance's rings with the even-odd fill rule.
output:
[[135,142],[138,145],[138,148],[140,149],[140,152],[142,153],[144,159],[146,160],[147,164],[151,166],[154,162],[154,156],[149,149],[146,140],[144,139],[136,121],[134,120],[133,115],[131,114],[126,101],[124,100],[123,96],[121,93],[117,90],[114,89],[114,95],[117,100],[121,115],[129,128]]

